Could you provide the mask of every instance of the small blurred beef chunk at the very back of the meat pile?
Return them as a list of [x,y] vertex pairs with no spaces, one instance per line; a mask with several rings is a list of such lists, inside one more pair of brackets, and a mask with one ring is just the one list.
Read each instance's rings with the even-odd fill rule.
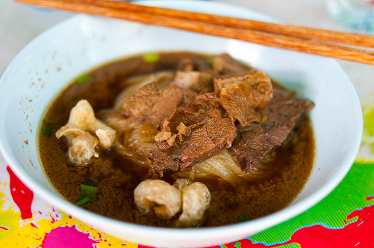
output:
[[250,69],[250,67],[235,60],[227,53],[220,54],[213,58],[213,69],[218,75],[239,75]]

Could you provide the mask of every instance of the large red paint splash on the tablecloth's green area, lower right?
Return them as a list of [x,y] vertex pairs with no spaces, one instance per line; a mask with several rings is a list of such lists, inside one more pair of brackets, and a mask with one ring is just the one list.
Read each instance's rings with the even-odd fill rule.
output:
[[[368,197],[370,201],[374,197]],[[358,221],[343,228],[333,229],[321,225],[301,228],[283,243],[265,245],[241,240],[210,248],[277,248],[289,244],[299,244],[302,248],[369,248],[374,247],[374,204],[362,210],[356,210],[347,216],[347,220],[358,217]],[[139,245],[138,248],[149,248]]]

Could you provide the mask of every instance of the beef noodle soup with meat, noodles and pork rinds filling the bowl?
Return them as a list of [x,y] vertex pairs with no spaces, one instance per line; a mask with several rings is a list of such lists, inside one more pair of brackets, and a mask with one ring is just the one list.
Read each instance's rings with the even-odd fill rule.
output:
[[303,189],[313,106],[228,54],[149,53],[63,90],[38,152],[55,189],[88,211],[159,227],[235,224]]

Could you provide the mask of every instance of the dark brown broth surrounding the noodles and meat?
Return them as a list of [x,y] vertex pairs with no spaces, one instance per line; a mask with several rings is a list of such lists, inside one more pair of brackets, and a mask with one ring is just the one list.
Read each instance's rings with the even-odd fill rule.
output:
[[[40,137],[38,149],[45,173],[68,201],[74,203],[80,196],[79,184],[85,180],[97,183],[97,200],[81,207],[110,218],[150,226],[169,227],[173,220],[162,221],[152,214],[141,215],[133,201],[133,190],[143,180],[147,170],[134,165],[115,151],[103,152],[84,168],[67,164],[67,148],[54,133],[67,122],[70,109],[80,99],[87,99],[95,111],[112,107],[118,92],[126,87],[126,78],[154,70],[173,68],[175,62],[191,53],[162,53],[158,63],[146,63],[141,56],[104,65],[89,73],[83,84],[71,84],[51,104],[44,120],[52,124],[51,137]],[[41,130],[47,124],[41,125]],[[256,219],[279,211],[289,205],[303,189],[313,167],[314,138],[309,118],[295,132],[293,142],[280,147],[270,162],[261,167],[271,168],[267,178],[256,182],[241,180],[232,186],[222,180],[206,179],[212,201],[205,212],[203,226],[221,226],[238,222],[239,216]],[[167,181],[173,179],[167,178]]]

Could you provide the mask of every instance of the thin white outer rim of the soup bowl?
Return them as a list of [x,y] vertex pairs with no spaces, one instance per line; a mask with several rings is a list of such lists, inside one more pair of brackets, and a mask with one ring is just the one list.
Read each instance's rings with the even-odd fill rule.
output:
[[[168,0],[141,0],[138,1],[137,4],[144,4],[144,5],[159,5],[159,6],[167,6],[167,7],[174,7],[174,8],[180,8],[181,3],[184,5],[190,4],[191,2],[199,2],[200,6],[203,4],[204,6],[214,6],[214,5],[222,5],[227,6],[231,10],[240,8],[239,6],[235,6],[228,3],[221,3],[221,2],[202,2],[202,1],[195,1],[195,0],[179,0],[178,3],[168,1]],[[242,9],[242,8],[241,8]],[[250,10],[245,8],[248,12],[253,12],[258,16],[262,16],[265,19],[271,20],[271,17],[268,17],[266,15],[263,15],[261,13],[258,13],[256,11]],[[214,11],[212,11],[214,12]],[[66,25],[70,22],[78,21],[80,18],[85,18],[85,15],[79,14],[73,17],[70,17],[51,28],[47,29],[46,31],[42,32],[38,36],[36,36],[32,41],[30,41],[15,57],[14,59],[9,63],[8,67],[5,69],[1,79],[0,79],[0,102],[2,99],[2,88],[4,86],[5,78],[8,76],[8,74],[11,73],[12,67],[14,66],[14,63],[18,58],[22,56],[22,52],[27,49],[30,43],[35,42],[39,39],[41,36],[48,35],[50,30],[54,28],[58,28],[60,25]],[[226,226],[219,226],[219,227],[209,227],[209,228],[199,228],[199,229],[172,229],[172,228],[163,228],[163,227],[149,227],[149,226],[143,226],[139,224],[133,224],[133,223],[127,223],[119,220],[114,220],[105,216],[101,216],[89,211],[86,211],[80,207],[74,206],[72,203],[67,202],[60,196],[50,192],[49,190],[45,189],[39,182],[37,182],[35,179],[33,179],[31,176],[28,176],[28,173],[22,168],[22,166],[18,165],[17,160],[15,157],[10,156],[11,154],[10,149],[7,147],[7,145],[4,143],[2,139],[0,139],[0,152],[7,162],[7,164],[11,167],[13,172],[19,177],[19,179],[38,197],[43,199],[44,201],[48,203],[53,203],[53,205],[58,206],[59,210],[62,210],[63,212],[69,213],[72,216],[74,216],[77,219],[80,220],[87,220],[89,218],[95,218],[97,222],[101,223],[110,223],[112,228],[118,228],[124,230],[123,232],[128,233],[129,235],[137,236],[141,232],[146,232],[147,237],[153,238],[153,239],[160,239],[160,237],[167,237],[172,236],[173,238],[177,239],[185,239],[189,240],[191,237],[196,240],[200,239],[208,239],[208,237],[219,237],[219,236],[227,236],[227,233],[231,233],[233,238],[236,237],[235,234],[243,234],[245,231],[243,230],[251,230],[251,227],[258,227],[260,230],[264,230],[265,228],[274,226],[276,224],[280,224],[281,222],[284,222],[286,220],[292,219],[293,217],[299,215],[300,213],[310,209],[315,204],[320,202],[323,198],[325,198],[331,191],[333,191],[337,185],[343,180],[343,178],[346,176],[348,171],[350,170],[352,164],[355,161],[356,155],[359,151],[360,144],[361,144],[361,136],[363,132],[363,117],[362,117],[362,110],[360,101],[357,95],[357,92],[355,90],[354,85],[352,84],[350,78],[346,74],[346,72],[343,70],[343,68],[340,66],[340,64],[330,58],[326,58],[327,60],[330,60],[332,66],[336,67],[337,72],[340,72],[345,77],[345,82],[349,89],[351,90],[354,100],[355,100],[355,110],[356,110],[356,126],[357,128],[357,135],[355,136],[355,140],[352,141],[352,147],[355,149],[349,150],[349,152],[346,154],[346,159],[342,162],[342,165],[340,167],[340,170],[334,174],[334,176],[319,190],[312,193],[310,196],[308,196],[306,199],[301,200],[300,202],[293,204],[291,206],[286,207],[285,209],[282,209],[278,212],[275,212],[273,214],[270,214],[268,216],[251,220],[244,223],[237,223],[237,224],[231,224]],[[266,225],[264,225],[266,223]],[[239,237],[243,238],[243,237]]]

